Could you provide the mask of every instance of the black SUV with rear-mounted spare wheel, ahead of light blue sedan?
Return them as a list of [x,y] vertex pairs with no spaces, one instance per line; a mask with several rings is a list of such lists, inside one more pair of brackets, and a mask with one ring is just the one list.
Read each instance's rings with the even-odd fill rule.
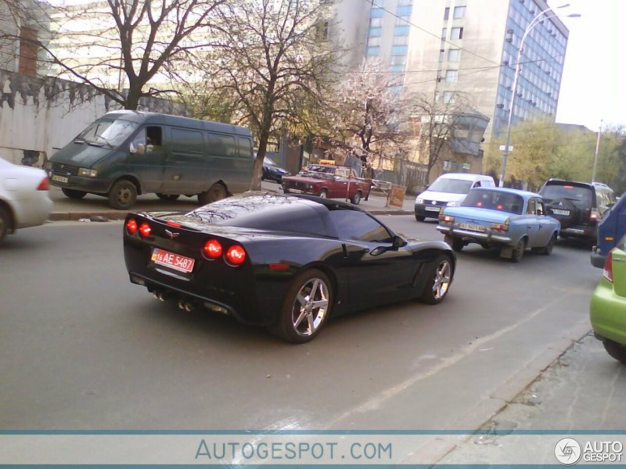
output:
[[560,235],[595,241],[598,221],[615,204],[613,189],[602,183],[550,179],[539,191],[546,211],[561,222]]

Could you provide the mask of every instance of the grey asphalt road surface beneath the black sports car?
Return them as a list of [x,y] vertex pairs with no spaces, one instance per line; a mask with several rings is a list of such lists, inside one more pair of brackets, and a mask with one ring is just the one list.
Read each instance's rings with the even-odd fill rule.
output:
[[[441,239],[434,222],[381,218]],[[294,346],[131,285],[121,229],[57,222],[0,246],[1,429],[469,430],[585,325],[600,275],[580,246],[520,264],[470,246],[441,305],[344,316]]]

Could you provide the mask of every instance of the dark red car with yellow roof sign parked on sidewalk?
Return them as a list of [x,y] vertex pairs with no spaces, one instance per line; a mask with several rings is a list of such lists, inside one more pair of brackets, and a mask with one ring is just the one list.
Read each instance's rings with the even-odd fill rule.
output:
[[[331,161],[331,160],[327,160]],[[296,176],[282,178],[285,194],[312,194],[321,198],[348,198],[353,204],[369,196],[371,179],[357,178],[352,168],[331,164],[309,164]]]

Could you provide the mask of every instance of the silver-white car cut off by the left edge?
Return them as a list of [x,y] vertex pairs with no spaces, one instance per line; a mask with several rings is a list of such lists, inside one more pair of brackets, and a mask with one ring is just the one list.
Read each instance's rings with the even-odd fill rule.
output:
[[0,242],[16,229],[46,223],[52,209],[46,171],[0,158]]

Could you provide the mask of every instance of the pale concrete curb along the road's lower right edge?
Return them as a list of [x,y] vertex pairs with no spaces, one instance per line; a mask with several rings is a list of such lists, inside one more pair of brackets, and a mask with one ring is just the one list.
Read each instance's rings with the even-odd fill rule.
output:
[[588,320],[581,321],[563,336],[554,341],[542,353],[533,358],[524,368],[503,382],[488,398],[479,401],[447,430],[467,430],[466,435],[438,435],[420,446],[402,461],[402,464],[435,465],[461,443],[471,438],[491,418],[500,413],[516,396],[541,377],[541,373],[568,351],[574,343],[582,340],[591,331]]

